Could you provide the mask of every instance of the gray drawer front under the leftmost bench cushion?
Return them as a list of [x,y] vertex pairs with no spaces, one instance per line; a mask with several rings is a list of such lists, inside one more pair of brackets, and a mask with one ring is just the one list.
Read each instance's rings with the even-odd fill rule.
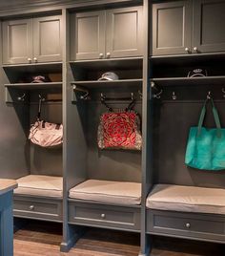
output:
[[60,201],[14,198],[13,204],[13,214],[16,217],[50,221],[62,220],[62,203]]

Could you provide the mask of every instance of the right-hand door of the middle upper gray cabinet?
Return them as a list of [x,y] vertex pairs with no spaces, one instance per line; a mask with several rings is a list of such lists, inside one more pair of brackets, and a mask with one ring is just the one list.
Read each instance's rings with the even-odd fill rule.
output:
[[107,11],[106,57],[142,54],[142,7]]

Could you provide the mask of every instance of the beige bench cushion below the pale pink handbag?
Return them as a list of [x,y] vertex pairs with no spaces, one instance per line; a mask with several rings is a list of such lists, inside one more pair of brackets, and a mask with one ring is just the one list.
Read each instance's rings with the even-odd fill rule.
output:
[[28,175],[16,180],[14,194],[57,197],[63,196],[63,178],[46,175]]

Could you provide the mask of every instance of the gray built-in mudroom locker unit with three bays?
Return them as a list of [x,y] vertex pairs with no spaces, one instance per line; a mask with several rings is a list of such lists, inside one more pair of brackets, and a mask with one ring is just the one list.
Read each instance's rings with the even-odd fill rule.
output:
[[[200,128],[215,107],[225,126],[224,13],[224,0],[2,1],[0,178],[18,183],[16,220],[61,223],[63,252],[87,226],[138,233],[139,256],[158,235],[225,244],[225,171],[185,164],[204,102]],[[122,115],[132,148],[102,134],[128,133]]]

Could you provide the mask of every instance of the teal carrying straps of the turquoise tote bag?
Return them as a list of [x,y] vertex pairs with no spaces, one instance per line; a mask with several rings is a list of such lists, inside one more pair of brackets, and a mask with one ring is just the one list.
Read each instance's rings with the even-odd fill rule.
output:
[[210,99],[207,98],[204,102],[204,105],[202,107],[201,114],[200,114],[200,117],[199,117],[199,120],[198,120],[197,136],[199,136],[200,133],[201,133],[201,127],[203,125],[204,118],[205,118],[205,115],[206,115],[206,104],[207,104],[208,100],[211,101],[211,105],[212,105],[213,115],[214,115],[214,119],[215,119],[215,126],[216,126],[216,129],[217,129],[217,137],[221,137],[221,124],[220,124],[220,120],[219,120],[219,117],[218,117],[217,109],[215,108],[215,103],[214,103],[213,98],[210,98]]

